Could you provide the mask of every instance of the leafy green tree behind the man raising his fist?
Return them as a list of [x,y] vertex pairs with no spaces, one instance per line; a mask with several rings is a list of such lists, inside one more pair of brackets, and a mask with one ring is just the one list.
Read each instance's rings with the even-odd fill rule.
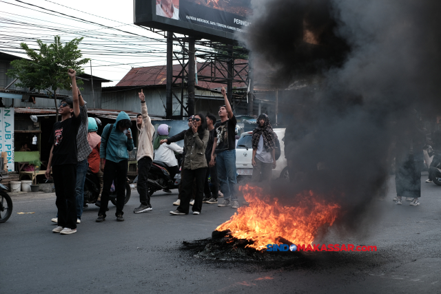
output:
[[[78,49],[79,43],[83,38],[75,38],[64,45],[60,41],[60,36],[54,36],[54,43],[45,44],[37,40],[38,50],[29,48],[25,43],[20,47],[28,54],[28,59],[17,59],[11,61],[12,69],[8,70],[7,75],[18,78],[19,87],[29,87],[37,91],[45,91],[48,96],[52,96],[55,102],[58,121],[58,90],[70,90],[70,77],[68,69],[76,70],[77,76],[83,74],[81,65],[88,63],[90,59],[81,59],[83,54]],[[38,52],[39,51],[39,52]],[[83,81],[79,80],[78,85]]]

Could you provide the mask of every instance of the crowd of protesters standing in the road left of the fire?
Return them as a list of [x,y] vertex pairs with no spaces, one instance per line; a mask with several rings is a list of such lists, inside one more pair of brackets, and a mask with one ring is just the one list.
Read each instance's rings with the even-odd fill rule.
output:
[[[76,233],[76,224],[81,223],[85,176],[88,169],[99,178],[100,192],[96,201],[99,213],[96,222],[106,218],[110,190],[116,191],[116,220],[123,221],[125,182],[129,152],[134,149],[130,127],[132,122],[125,112],[120,112],[115,123],[105,125],[101,136],[96,131],[94,118],[88,118],[86,102],[76,86],[76,72],[68,70],[72,80],[72,98],[64,98],[59,104],[61,121],[54,123],[50,136],[52,145],[45,176],[54,179],[57,195],[57,222],[54,233]],[[136,117],[139,140],[136,153],[138,162],[137,191],[140,205],[134,213],[152,210],[148,189],[148,174],[153,160],[167,166],[170,178],[181,170],[181,185],[177,206],[170,214],[181,216],[198,215],[203,203],[218,204],[218,207],[239,207],[236,179],[236,125],[237,120],[229,104],[226,90],[221,90],[225,105],[219,107],[220,123],[214,114],[196,114],[188,118],[188,129],[169,137],[170,127],[159,125],[156,133],[147,113],[145,95],[139,93],[141,113]],[[276,167],[276,134],[266,114],[258,117],[258,126],[253,132],[253,178],[252,181],[270,180],[271,169]],[[184,147],[176,142],[183,140]],[[175,154],[182,154],[179,166]],[[164,189],[165,192],[171,192]],[[223,197],[218,202],[218,197]]]

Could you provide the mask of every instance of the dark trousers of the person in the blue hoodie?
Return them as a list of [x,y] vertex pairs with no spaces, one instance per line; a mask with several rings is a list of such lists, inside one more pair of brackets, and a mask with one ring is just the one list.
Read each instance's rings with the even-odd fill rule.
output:
[[101,207],[98,215],[105,217],[105,211],[107,210],[107,204],[109,204],[110,187],[112,181],[116,179],[116,213],[118,216],[123,213],[124,200],[125,200],[125,182],[127,179],[127,159],[120,162],[114,162],[111,160],[105,160],[105,166],[103,171],[103,193],[101,194]]

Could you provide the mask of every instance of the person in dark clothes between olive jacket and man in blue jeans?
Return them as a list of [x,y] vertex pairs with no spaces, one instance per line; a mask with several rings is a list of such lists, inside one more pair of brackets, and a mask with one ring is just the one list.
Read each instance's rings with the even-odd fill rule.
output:
[[[216,163],[212,164],[212,151],[214,144],[215,130],[214,123],[216,123],[216,116],[214,114],[208,113],[207,116],[207,129],[209,132],[207,149],[205,149],[205,159],[207,160],[207,174],[205,175],[204,193],[205,198],[202,202],[208,204],[216,204],[218,202],[218,172]],[[209,187],[208,178],[211,179],[212,187]]]

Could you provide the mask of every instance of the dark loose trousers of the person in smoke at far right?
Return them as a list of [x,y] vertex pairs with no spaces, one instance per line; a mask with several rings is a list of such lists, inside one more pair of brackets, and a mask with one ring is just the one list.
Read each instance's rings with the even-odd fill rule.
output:
[[398,165],[395,175],[397,196],[421,197],[422,162],[409,159]]

